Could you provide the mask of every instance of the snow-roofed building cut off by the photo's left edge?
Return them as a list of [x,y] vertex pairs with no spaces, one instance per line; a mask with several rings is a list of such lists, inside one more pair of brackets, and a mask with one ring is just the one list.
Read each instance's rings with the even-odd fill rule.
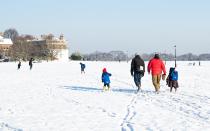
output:
[[13,45],[12,40],[0,36],[0,57],[8,56],[9,48]]

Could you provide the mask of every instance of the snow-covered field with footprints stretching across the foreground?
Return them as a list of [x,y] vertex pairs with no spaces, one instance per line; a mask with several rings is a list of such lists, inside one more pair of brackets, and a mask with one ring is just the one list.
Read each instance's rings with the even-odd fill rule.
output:
[[[178,92],[161,81],[154,93],[145,73],[136,94],[130,63],[0,63],[0,131],[204,131],[210,130],[210,62],[177,62]],[[173,62],[167,62],[167,72]],[[196,63],[197,64],[197,63]],[[146,62],[147,65],[147,62]],[[102,92],[101,72],[112,73]]]

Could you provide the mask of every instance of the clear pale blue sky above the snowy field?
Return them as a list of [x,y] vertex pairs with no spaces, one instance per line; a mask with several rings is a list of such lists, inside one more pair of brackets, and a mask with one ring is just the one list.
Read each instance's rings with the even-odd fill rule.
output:
[[210,53],[210,0],[0,0],[0,31],[63,33],[70,52]]

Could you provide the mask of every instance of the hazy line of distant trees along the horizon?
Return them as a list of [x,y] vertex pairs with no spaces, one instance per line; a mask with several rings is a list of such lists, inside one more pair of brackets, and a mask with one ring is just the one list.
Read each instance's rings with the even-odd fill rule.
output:
[[[143,60],[148,61],[154,57],[155,53],[143,53],[140,54]],[[72,53],[70,59],[72,60],[87,60],[87,61],[129,61],[134,57],[135,54],[128,56],[123,51],[110,51],[110,52],[93,52],[90,54],[81,54],[79,52]],[[173,54],[160,53],[160,57],[166,61],[174,61],[175,57]],[[209,61],[210,54],[194,55],[187,53],[179,55],[176,58],[178,61]]]

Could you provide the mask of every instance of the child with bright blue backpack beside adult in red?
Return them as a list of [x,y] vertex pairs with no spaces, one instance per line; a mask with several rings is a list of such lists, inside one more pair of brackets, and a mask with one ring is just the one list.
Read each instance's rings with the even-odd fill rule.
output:
[[172,92],[172,89],[175,89],[175,92],[177,91],[177,88],[179,87],[178,84],[178,71],[175,70],[175,68],[171,67],[169,70],[169,74],[166,79],[166,85],[170,87],[170,92]]

